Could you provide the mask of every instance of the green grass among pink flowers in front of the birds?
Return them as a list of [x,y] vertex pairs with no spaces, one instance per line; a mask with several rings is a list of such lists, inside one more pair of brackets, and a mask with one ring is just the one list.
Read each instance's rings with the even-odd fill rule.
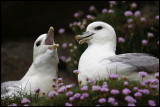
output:
[[[74,106],[95,106],[100,105],[98,100],[99,98],[106,98],[108,100],[109,97],[114,97],[116,101],[118,102],[119,106],[127,106],[127,101],[124,100],[124,95],[122,94],[122,90],[124,88],[129,88],[132,93],[129,95],[134,97],[134,91],[133,87],[138,86],[139,89],[143,89],[143,87],[140,86],[139,82],[136,81],[128,81],[129,85],[126,87],[123,85],[124,80],[102,80],[97,81],[96,84],[102,85],[104,81],[107,81],[109,90],[111,89],[118,89],[120,91],[120,94],[118,95],[112,95],[110,92],[102,93],[102,92],[93,92],[92,86],[88,84],[88,93],[89,98],[85,98],[84,100],[76,99],[73,102],[69,101],[69,98],[66,97],[65,93],[59,94],[55,96],[53,99],[50,99],[48,96],[38,96],[38,94],[31,94],[31,95],[24,95],[24,97],[28,98],[31,102],[29,103],[30,106],[65,106],[66,102],[72,103]],[[135,98],[137,100],[136,106],[148,106],[148,100],[154,100],[156,102],[156,105],[159,106],[159,93],[156,90],[150,90],[149,95],[142,95],[140,98]],[[73,87],[70,91],[73,91],[73,93],[83,93],[80,90],[79,86]],[[1,99],[1,105],[6,106],[12,103],[16,103],[18,106],[23,106],[21,104],[22,97],[13,97],[13,98],[5,98]],[[111,106],[109,103],[101,104],[102,106]]]

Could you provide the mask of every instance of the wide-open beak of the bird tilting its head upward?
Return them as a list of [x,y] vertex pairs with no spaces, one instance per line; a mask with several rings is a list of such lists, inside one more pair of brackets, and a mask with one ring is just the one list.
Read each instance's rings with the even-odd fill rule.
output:
[[54,42],[54,28],[51,26],[47,33],[47,38],[45,40],[45,45],[49,45],[48,49],[55,50],[59,47],[59,44],[55,44]]

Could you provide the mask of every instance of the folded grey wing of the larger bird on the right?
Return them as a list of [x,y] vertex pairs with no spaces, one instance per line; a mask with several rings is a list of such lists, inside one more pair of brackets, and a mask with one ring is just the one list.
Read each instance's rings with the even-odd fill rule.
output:
[[107,58],[111,62],[121,62],[137,68],[138,71],[159,72],[159,59],[145,53],[127,53]]

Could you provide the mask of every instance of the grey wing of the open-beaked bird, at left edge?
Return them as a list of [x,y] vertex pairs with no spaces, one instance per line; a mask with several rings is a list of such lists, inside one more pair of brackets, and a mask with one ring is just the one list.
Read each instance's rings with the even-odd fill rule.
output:
[[7,81],[1,83],[1,95],[6,94],[9,90],[8,87],[17,86],[20,84],[20,81]]

